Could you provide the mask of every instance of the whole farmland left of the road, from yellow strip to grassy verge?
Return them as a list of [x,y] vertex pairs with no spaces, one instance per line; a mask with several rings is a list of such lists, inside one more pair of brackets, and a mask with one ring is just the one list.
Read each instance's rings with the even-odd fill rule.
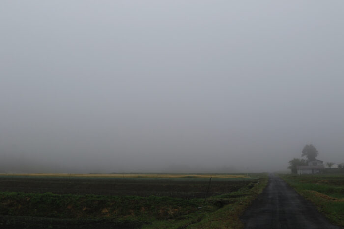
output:
[[266,174],[2,174],[0,226],[240,228],[266,183]]

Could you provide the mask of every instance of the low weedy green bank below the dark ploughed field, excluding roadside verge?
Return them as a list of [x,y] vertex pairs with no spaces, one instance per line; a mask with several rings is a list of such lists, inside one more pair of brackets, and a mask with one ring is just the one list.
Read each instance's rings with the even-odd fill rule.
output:
[[169,219],[197,210],[199,199],[0,193],[0,214],[52,218]]

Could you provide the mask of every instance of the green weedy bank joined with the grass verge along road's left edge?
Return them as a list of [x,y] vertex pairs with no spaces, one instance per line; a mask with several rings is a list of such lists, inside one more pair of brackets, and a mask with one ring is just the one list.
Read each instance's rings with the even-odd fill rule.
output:
[[[210,196],[206,202],[204,198],[155,195],[0,192],[0,215],[7,218],[31,217],[30,220],[34,222],[41,217],[38,220],[43,219],[42,222],[45,219],[60,220],[59,224],[65,221],[77,224],[88,220],[89,223],[101,221],[136,228],[242,228],[240,215],[263,190],[268,180],[267,174],[253,174],[248,179],[251,181],[242,182],[236,191]],[[223,182],[231,183],[227,178]],[[233,184],[237,185],[237,181]],[[5,223],[3,221],[6,221],[6,217],[2,221],[0,219],[1,224]]]

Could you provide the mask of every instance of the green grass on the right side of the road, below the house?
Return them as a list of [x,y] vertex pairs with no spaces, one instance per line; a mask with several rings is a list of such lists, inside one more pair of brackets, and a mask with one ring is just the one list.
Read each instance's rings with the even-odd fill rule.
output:
[[280,175],[334,224],[344,227],[344,175]]

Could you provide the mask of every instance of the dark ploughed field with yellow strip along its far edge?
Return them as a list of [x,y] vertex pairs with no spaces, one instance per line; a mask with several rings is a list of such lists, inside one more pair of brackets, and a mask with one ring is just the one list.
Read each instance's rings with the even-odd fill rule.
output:
[[208,196],[237,191],[255,179],[247,175],[204,174],[19,174],[0,175],[0,191],[203,198],[210,177]]

